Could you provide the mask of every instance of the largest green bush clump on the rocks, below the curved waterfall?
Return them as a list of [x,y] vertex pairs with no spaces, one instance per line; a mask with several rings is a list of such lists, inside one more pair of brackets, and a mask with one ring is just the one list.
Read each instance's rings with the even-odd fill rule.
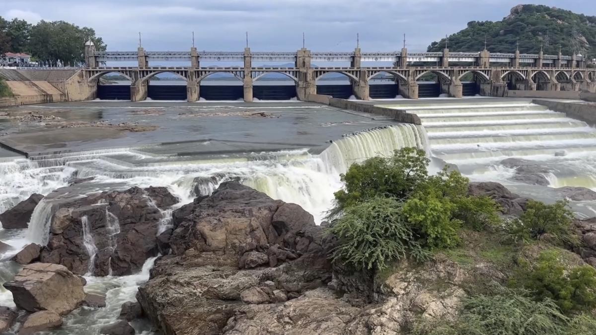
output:
[[429,176],[428,164],[423,150],[403,148],[350,166],[330,212],[340,216],[330,228],[339,238],[334,262],[383,271],[389,262],[457,246],[462,226],[499,222],[493,200],[467,195],[467,178],[457,171]]

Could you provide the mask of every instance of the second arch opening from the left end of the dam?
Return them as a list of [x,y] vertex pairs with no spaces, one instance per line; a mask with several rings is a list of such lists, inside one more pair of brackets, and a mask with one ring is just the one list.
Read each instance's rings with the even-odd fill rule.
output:
[[147,100],[187,100],[187,79],[178,73],[151,73],[145,80]]

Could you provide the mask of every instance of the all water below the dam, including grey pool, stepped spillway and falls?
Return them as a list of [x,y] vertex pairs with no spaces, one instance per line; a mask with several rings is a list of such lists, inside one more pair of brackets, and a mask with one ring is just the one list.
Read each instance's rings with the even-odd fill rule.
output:
[[[0,240],[15,250],[47,243],[54,203],[83,194],[163,186],[178,197],[178,208],[229,180],[299,204],[320,224],[342,187],[340,173],[402,147],[425,150],[432,171],[448,163],[472,181],[501,182],[544,201],[561,198],[557,188],[563,186],[596,190],[596,130],[532,100],[359,103],[415,114],[421,124],[303,101],[85,101],[4,108],[0,212],[33,193],[48,197],[35,207],[28,228],[0,229]],[[591,201],[572,206],[579,216],[596,214]],[[160,229],[172,227],[172,210],[163,216]],[[82,334],[116,320],[154,260],[135,275],[86,275],[91,290],[108,292],[107,307],[77,310],[51,334]],[[0,262],[2,280],[15,271],[12,262]],[[13,306],[9,291],[0,292],[0,305]],[[133,326],[151,334],[148,324]]]

